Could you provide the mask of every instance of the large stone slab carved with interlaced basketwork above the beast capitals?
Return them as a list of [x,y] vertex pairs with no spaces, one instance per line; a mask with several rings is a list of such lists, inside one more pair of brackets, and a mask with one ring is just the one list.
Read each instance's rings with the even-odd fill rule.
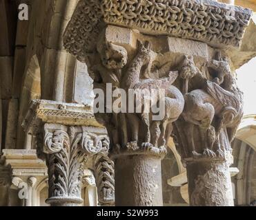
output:
[[81,0],[63,37],[64,47],[84,61],[106,24],[144,34],[239,47],[251,10],[212,0]]

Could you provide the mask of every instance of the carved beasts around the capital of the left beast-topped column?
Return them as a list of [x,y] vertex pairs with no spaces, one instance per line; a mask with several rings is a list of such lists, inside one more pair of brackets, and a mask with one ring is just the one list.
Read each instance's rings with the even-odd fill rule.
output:
[[133,143],[146,148],[164,146],[172,132],[172,123],[184,109],[184,97],[172,85],[178,73],[170,70],[168,62],[158,69],[152,67],[157,54],[151,50],[147,41],[137,41],[137,52],[132,58],[124,47],[109,42],[105,44],[103,46],[101,42],[97,47],[103,65],[97,64],[90,68],[97,87],[104,88],[106,83],[112,83],[114,87],[124,89],[126,94],[130,89],[148,91],[149,94],[152,91],[157,94],[164,91],[163,97],[157,96],[151,103],[151,106],[159,106],[160,100],[164,100],[164,116],[161,120],[153,120],[155,113],[145,111],[148,94],[144,93],[141,94],[141,113],[112,113],[108,118],[104,115],[105,121],[108,120],[106,127],[113,145],[126,147],[127,143]]

